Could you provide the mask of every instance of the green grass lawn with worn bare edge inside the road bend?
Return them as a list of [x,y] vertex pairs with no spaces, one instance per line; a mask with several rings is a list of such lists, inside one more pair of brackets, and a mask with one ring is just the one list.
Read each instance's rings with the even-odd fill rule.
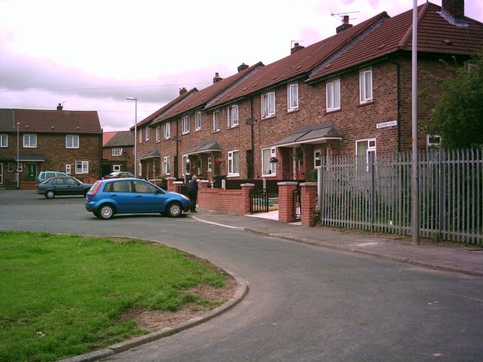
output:
[[[176,310],[225,275],[141,241],[0,231],[0,361],[54,361],[145,334],[133,307]],[[205,302],[205,301],[200,301]]]

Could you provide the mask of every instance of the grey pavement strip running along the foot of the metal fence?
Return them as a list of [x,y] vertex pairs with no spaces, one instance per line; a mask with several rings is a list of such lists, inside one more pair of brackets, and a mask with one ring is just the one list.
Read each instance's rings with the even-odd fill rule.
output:
[[412,245],[410,238],[394,234],[367,234],[321,226],[308,228],[300,226],[300,222],[287,224],[278,221],[277,211],[239,216],[198,209],[196,214],[189,215],[198,221],[321,248],[483,277],[481,246],[445,242]]

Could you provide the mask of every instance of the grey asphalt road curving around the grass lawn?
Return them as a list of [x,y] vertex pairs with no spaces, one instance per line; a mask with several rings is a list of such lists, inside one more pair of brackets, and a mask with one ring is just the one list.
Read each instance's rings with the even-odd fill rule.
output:
[[87,214],[0,192],[0,229],[146,238],[249,281],[234,309],[109,361],[483,361],[482,278],[352,256],[190,217]]

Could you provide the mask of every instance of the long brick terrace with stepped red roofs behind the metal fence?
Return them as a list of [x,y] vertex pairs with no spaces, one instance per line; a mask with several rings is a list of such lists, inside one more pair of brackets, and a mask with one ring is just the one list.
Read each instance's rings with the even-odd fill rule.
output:
[[[295,43],[281,60],[241,65],[226,79],[216,74],[210,87],[141,121],[139,144],[149,128],[161,135],[141,157],[152,160],[143,176],[147,167],[208,180],[305,180],[323,155],[411,149],[411,31],[412,11],[356,26],[344,18],[335,35],[306,48]],[[418,7],[420,123],[440,92],[427,73],[444,77],[453,58],[462,64],[482,50],[483,24],[465,17],[464,1]],[[430,136],[420,134],[421,148]]]

